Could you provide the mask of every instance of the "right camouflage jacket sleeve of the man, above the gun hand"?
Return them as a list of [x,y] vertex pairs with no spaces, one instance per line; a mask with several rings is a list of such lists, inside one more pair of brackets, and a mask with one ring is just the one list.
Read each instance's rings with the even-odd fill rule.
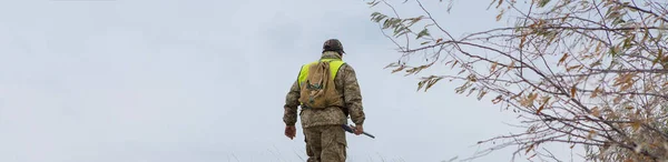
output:
[[342,69],[344,74],[343,95],[345,107],[348,108],[353,123],[363,124],[366,117],[362,108],[362,92],[357,83],[355,70],[350,64],[345,64]]

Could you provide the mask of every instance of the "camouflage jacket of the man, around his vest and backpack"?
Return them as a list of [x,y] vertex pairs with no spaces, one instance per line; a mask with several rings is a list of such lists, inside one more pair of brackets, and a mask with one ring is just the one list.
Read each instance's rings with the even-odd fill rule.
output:
[[[341,59],[336,52],[324,52],[322,59]],[[336,91],[342,94],[344,105],[347,108],[351,120],[355,124],[364,123],[364,111],[362,108],[362,94],[357,84],[355,70],[344,63],[334,78]],[[297,122],[297,107],[299,105],[299,85],[295,82],[285,97],[283,122],[286,125],[295,125]],[[302,109],[299,114],[302,128],[311,128],[327,124],[347,124],[347,117],[341,108],[332,107],[323,110]]]

